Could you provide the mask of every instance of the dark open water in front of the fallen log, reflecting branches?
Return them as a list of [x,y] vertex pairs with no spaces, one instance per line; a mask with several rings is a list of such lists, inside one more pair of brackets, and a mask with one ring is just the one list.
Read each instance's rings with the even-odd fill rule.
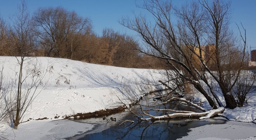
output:
[[[102,118],[74,120],[81,123],[96,124],[92,131],[76,135],[72,140],[175,140],[188,135],[189,128],[210,124],[224,124],[225,119],[210,118],[207,120],[168,119],[157,121],[136,121],[133,114],[128,112],[108,116],[116,121],[107,121]],[[218,117],[220,118],[220,117]],[[135,120],[132,124],[123,120]]]

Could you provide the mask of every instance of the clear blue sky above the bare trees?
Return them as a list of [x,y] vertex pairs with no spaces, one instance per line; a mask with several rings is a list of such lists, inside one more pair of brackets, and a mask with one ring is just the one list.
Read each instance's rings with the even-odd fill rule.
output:
[[[48,6],[62,6],[74,10],[83,17],[89,17],[93,22],[93,30],[100,36],[104,28],[134,34],[117,21],[122,16],[133,18],[132,11],[136,14],[144,12],[136,8],[135,1],[138,4],[142,3],[142,0],[27,0],[26,2],[31,13],[39,7]],[[186,1],[189,0],[172,0],[172,3],[180,5]],[[20,3],[21,0],[0,0],[0,16],[8,22],[8,17],[17,11],[17,5]],[[231,28],[238,33],[234,22],[238,24],[242,22],[247,29],[248,47],[256,49],[256,0],[231,0],[231,8],[233,9]]]

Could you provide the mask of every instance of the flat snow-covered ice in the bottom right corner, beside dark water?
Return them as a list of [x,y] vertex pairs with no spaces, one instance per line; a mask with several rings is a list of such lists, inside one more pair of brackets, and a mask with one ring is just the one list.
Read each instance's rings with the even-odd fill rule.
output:
[[191,128],[179,140],[256,140],[256,124],[227,121],[226,124],[204,125]]

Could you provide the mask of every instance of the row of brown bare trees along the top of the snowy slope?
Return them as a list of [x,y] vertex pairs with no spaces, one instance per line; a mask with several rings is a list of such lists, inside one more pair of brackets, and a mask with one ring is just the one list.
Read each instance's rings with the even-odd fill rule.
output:
[[[89,18],[63,7],[43,7],[32,15],[26,9],[17,12],[6,23],[0,18],[0,56],[46,56],[128,68],[162,68],[160,61],[143,55],[134,36],[121,34],[111,28],[102,36],[93,31]],[[21,7],[22,8],[22,7]],[[21,26],[25,27],[26,41],[20,44]],[[25,48],[26,49],[25,49]]]

